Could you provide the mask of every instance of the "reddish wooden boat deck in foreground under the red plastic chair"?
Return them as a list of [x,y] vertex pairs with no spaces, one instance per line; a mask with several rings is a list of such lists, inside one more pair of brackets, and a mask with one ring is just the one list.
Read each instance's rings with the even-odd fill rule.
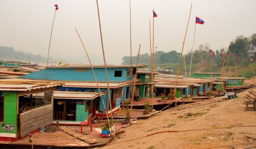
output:
[[[60,146],[60,147],[95,147],[107,145],[114,137],[101,137],[100,130],[102,123],[96,123],[90,127],[83,127],[83,134],[80,132],[80,126],[60,126],[55,132],[35,132],[32,134],[32,141],[29,142],[28,136],[14,142],[5,142],[9,145],[25,146]],[[116,125],[115,125],[116,126]],[[96,128],[97,127],[97,128]],[[121,129],[119,124],[115,127],[116,133]],[[96,131],[98,130],[98,131]]]

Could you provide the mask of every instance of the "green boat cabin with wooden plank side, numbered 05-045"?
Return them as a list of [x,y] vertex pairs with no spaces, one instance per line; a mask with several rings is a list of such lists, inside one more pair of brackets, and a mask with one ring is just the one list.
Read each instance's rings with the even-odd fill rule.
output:
[[54,85],[0,84],[0,139],[15,140],[52,124],[53,88]]

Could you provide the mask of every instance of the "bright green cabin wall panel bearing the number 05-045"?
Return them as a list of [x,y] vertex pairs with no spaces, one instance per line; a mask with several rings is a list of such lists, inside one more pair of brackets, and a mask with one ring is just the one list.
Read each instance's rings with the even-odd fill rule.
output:
[[2,131],[0,124],[0,133],[16,133],[17,132],[17,93],[16,92],[2,92],[4,95],[4,124],[14,125],[14,131]]

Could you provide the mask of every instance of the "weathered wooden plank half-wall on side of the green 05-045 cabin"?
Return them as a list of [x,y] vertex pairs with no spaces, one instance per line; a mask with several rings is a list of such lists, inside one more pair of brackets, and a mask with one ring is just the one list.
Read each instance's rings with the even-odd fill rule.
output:
[[53,105],[42,106],[20,114],[21,137],[53,122]]

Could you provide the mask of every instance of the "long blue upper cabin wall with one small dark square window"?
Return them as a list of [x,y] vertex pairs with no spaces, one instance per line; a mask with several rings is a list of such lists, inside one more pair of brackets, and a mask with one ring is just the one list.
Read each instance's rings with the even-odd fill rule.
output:
[[[77,70],[78,68],[76,68]],[[65,81],[90,81],[95,82],[91,68],[83,68],[87,71],[75,71],[75,68],[46,68],[30,74],[20,76],[19,78],[28,78],[36,80],[65,80]],[[107,68],[109,82],[122,82],[134,78],[126,77],[127,68]],[[121,77],[115,77],[115,71],[122,71]],[[105,68],[94,68],[98,82],[106,82]]]

